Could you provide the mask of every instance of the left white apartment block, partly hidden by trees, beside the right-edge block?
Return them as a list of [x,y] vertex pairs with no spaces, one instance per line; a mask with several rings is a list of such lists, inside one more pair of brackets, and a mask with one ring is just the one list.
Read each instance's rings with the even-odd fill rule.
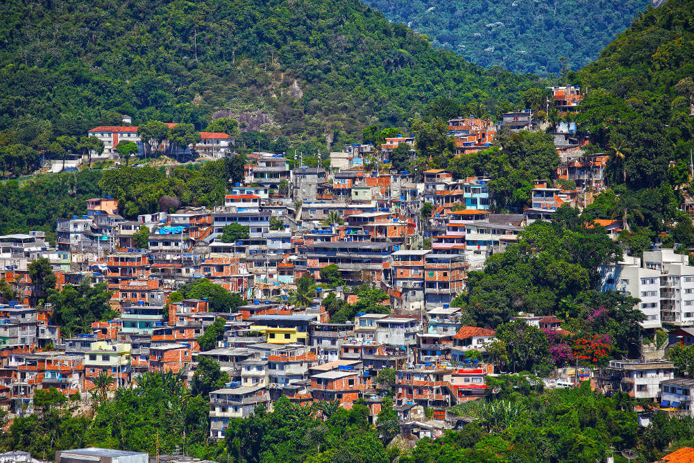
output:
[[[640,301],[638,309],[645,315],[641,322],[643,328],[660,328],[660,286],[661,272],[656,269],[644,269],[641,260],[625,256],[617,264],[600,267],[602,291],[616,291],[625,296],[633,296]],[[694,295],[693,295],[694,296]],[[694,298],[694,297],[693,297]]]

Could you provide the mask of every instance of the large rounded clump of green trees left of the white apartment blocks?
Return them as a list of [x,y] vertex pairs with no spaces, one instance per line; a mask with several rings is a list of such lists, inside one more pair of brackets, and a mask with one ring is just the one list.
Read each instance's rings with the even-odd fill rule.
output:
[[[572,212],[564,207],[557,216]],[[519,311],[555,314],[564,301],[597,289],[598,266],[621,258],[619,245],[602,228],[559,220],[530,224],[517,244],[486,260],[484,271],[468,273],[468,291],[455,302],[473,323],[493,328]]]

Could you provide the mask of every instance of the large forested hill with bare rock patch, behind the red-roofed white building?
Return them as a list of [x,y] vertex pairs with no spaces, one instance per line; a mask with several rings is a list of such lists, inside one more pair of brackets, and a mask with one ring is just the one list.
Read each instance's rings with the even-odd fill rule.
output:
[[251,122],[324,137],[530,85],[357,0],[8,0],[0,15],[0,130],[32,116],[80,133],[113,110],[200,128],[214,110],[261,110]]

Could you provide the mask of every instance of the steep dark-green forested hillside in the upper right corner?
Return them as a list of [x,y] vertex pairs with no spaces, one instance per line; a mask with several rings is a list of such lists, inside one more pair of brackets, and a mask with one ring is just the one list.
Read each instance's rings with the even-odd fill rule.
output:
[[[670,0],[640,14],[593,64],[568,76],[591,90],[579,122],[632,189],[688,181],[694,117],[694,1]],[[622,172],[623,171],[623,172]],[[621,179],[619,178],[621,177]]]

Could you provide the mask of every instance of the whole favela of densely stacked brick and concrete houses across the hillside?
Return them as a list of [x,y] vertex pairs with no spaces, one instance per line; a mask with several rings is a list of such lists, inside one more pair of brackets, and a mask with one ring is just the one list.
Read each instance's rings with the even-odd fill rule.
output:
[[[562,112],[575,111],[582,97],[577,87],[552,92]],[[526,110],[504,115],[500,124],[463,117],[448,124],[464,155],[486,149],[502,128],[533,130],[537,121]],[[89,133],[103,140],[106,153],[119,140],[142,149],[134,126]],[[203,133],[202,146],[194,149],[229,155],[231,140],[222,135]],[[55,246],[43,232],[0,236],[0,278],[18,295],[13,301],[0,296],[0,404],[24,413],[37,389],[84,394],[103,373],[113,378],[112,388],[132,385],[148,371],[190,377],[201,357],[210,357],[230,378],[210,394],[210,437],[221,438],[230,419],[248,416],[257,405],[271,407],[282,395],[298,404],[337,400],[346,408],[364,399],[374,418],[383,403],[376,378],[389,368],[396,371],[394,405],[405,432],[436,437],[457,426],[448,407],[492,393],[486,378],[494,368],[482,359],[494,332],[461,326],[459,309],[451,307],[467,272],[516,242],[527,224],[551,220],[564,204],[582,207],[604,188],[607,155],[583,155],[575,124],[560,125],[554,135],[561,156],[557,176],[573,180],[575,189],[536,180],[530,206],[514,214],[491,212],[490,179],[483,176],[456,179],[430,169],[416,178],[409,171],[366,169],[374,158],[387,163],[400,143],[414,152],[414,139],[398,136],[380,149],[345,146],[330,153],[326,168],[301,162],[291,168],[285,155],[251,153],[244,181],[229,183],[223,205],[213,209],[126,219],[118,201],[105,196],[87,201],[85,214],[59,219]],[[424,203],[433,206],[429,217],[421,217]],[[245,226],[247,236],[223,240],[232,224]],[[146,246],[135,237],[144,226]],[[618,220],[595,226],[615,239],[622,229]],[[51,326],[53,308],[29,276],[38,258],[49,260],[57,289],[85,280],[105,283],[118,317],[74,336]],[[670,344],[694,342],[694,328],[687,328],[694,326],[694,267],[686,256],[657,250],[630,259],[600,269],[603,288],[638,297],[645,328],[679,327]],[[337,269],[340,286],[321,280],[328,266]],[[296,308],[291,292],[304,275],[318,280],[316,296]],[[247,303],[213,312],[205,298],[171,301],[182,285],[202,278]],[[353,304],[358,296],[350,287],[362,283],[388,295],[383,304],[391,313],[330,323],[325,298]],[[201,351],[198,338],[218,318],[226,321],[221,340]],[[514,318],[552,330],[561,324],[532,314]],[[674,371],[671,362],[657,359],[613,361],[600,371],[564,369],[548,384],[591,380],[605,392],[660,400],[663,409],[691,414],[694,382],[675,378]]]

